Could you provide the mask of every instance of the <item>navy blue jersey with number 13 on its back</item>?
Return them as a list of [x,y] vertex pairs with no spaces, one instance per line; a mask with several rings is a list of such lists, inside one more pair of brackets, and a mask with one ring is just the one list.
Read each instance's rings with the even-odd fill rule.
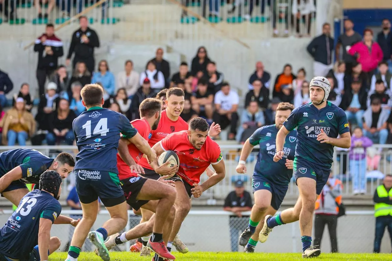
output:
[[35,189],[27,193],[0,229],[0,253],[13,259],[27,259],[38,245],[40,218],[53,223],[60,213],[60,203],[48,192]]

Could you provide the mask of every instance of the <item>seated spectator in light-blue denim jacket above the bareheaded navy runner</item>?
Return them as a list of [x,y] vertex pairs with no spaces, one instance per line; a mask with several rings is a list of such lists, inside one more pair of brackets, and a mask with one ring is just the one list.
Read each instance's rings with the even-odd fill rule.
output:
[[242,144],[253,132],[265,125],[264,113],[260,110],[257,101],[250,101],[247,109],[242,111],[240,120],[240,128],[237,131],[236,141]]

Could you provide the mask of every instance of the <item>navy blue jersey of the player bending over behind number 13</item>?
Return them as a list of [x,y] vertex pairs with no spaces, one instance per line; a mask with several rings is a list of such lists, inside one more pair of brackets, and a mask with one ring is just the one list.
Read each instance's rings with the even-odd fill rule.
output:
[[15,149],[0,153],[0,177],[15,167],[22,168],[22,183],[38,184],[41,174],[47,170],[54,159],[38,150]]

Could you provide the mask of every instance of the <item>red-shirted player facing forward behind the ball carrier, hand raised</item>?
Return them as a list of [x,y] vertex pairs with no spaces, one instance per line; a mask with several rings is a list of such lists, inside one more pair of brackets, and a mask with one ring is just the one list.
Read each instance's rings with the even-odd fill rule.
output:
[[[184,109],[184,101],[185,101],[185,93],[180,88],[171,88],[166,92],[166,100],[165,104],[167,108],[162,111],[161,120],[159,121],[158,128],[156,130],[151,130],[149,134],[149,145],[152,147],[167,135],[173,132],[179,132],[181,130],[188,130],[188,123],[186,123],[181,117],[180,114]],[[213,137],[220,133],[220,125],[215,123],[211,124],[209,136]],[[172,169],[167,168],[166,166],[158,167],[158,164],[151,166],[145,157],[141,158],[139,161],[139,165],[144,168],[145,178],[150,179],[159,179],[160,176],[166,176],[171,174],[172,169],[176,168],[174,166]],[[212,170],[209,170],[212,172]],[[158,174],[159,173],[159,174]],[[148,221],[153,213],[149,210],[142,210],[142,221]],[[181,224],[179,224],[180,226]],[[147,245],[148,237],[142,237],[143,248],[141,251],[141,255],[149,256],[148,250],[145,248]],[[171,244],[173,244],[176,249],[181,253],[187,253],[188,248],[185,244],[181,242],[178,236],[175,237],[173,242],[168,242],[168,248],[171,249]],[[144,250],[143,250],[144,249]],[[146,251],[147,250],[147,251]]]

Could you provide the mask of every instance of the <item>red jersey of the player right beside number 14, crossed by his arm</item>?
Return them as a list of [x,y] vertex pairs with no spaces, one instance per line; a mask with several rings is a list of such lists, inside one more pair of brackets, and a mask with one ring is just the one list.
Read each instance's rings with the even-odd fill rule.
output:
[[[139,134],[145,139],[148,140],[148,136],[150,134],[150,124],[146,120],[133,120],[131,121],[133,127],[138,130]],[[128,145],[129,154],[131,154],[132,158],[136,163],[143,157],[143,153],[133,144]],[[126,179],[129,177],[136,177],[138,174],[131,172],[127,163],[123,161],[120,155],[117,153],[117,169],[118,169],[118,178],[120,180]]]

